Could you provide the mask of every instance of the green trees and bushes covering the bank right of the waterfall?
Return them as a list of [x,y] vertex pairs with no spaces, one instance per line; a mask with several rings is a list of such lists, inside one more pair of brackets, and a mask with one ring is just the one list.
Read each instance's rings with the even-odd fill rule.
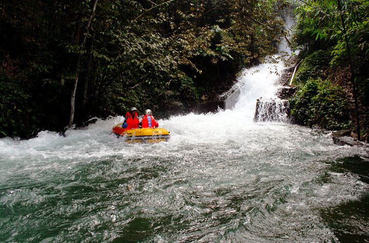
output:
[[[369,1],[306,1],[296,9],[296,13],[297,27],[294,43],[296,47],[301,49],[300,58],[305,59],[295,78],[301,91],[296,98],[300,101],[295,100],[294,104],[297,106],[292,107],[293,113],[298,114],[297,120],[304,124],[317,122],[326,128],[334,129],[333,127],[336,127],[338,129],[348,124],[341,119],[339,113],[339,111],[344,110],[343,106],[346,106],[343,105],[344,102],[342,103],[341,99],[348,98],[351,107],[354,107],[352,97],[357,96],[361,132],[365,134],[369,131],[369,69],[367,68],[369,65]],[[331,85],[326,81],[318,81],[319,78],[327,79]],[[311,92],[308,90],[312,89],[312,82],[318,85],[319,89],[325,89],[326,91],[322,94],[326,93],[327,97],[330,98],[323,95],[316,96],[317,93],[311,96]],[[354,84],[357,94],[353,91]],[[336,85],[344,87],[345,92],[339,91]],[[333,98],[329,95],[331,91],[337,92],[337,97]],[[297,110],[304,109],[298,106],[303,103],[302,100],[311,100],[313,97],[314,99],[320,97],[317,103],[332,102],[332,106],[337,105],[339,111],[335,117],[331,118],[330,122],[321,119],[329,117],[323,109],[315,109],[310,113]],[[325,106],[326,104],[324,104]],[[334,112],[333,109],[331,111]],[[351,108],[350,111],[347,115],[356,123],[354,108]],[[340,121],[343,122],[342,125],[334,125],[339,124]],[[351,128],[354,129],[354,127]]]

